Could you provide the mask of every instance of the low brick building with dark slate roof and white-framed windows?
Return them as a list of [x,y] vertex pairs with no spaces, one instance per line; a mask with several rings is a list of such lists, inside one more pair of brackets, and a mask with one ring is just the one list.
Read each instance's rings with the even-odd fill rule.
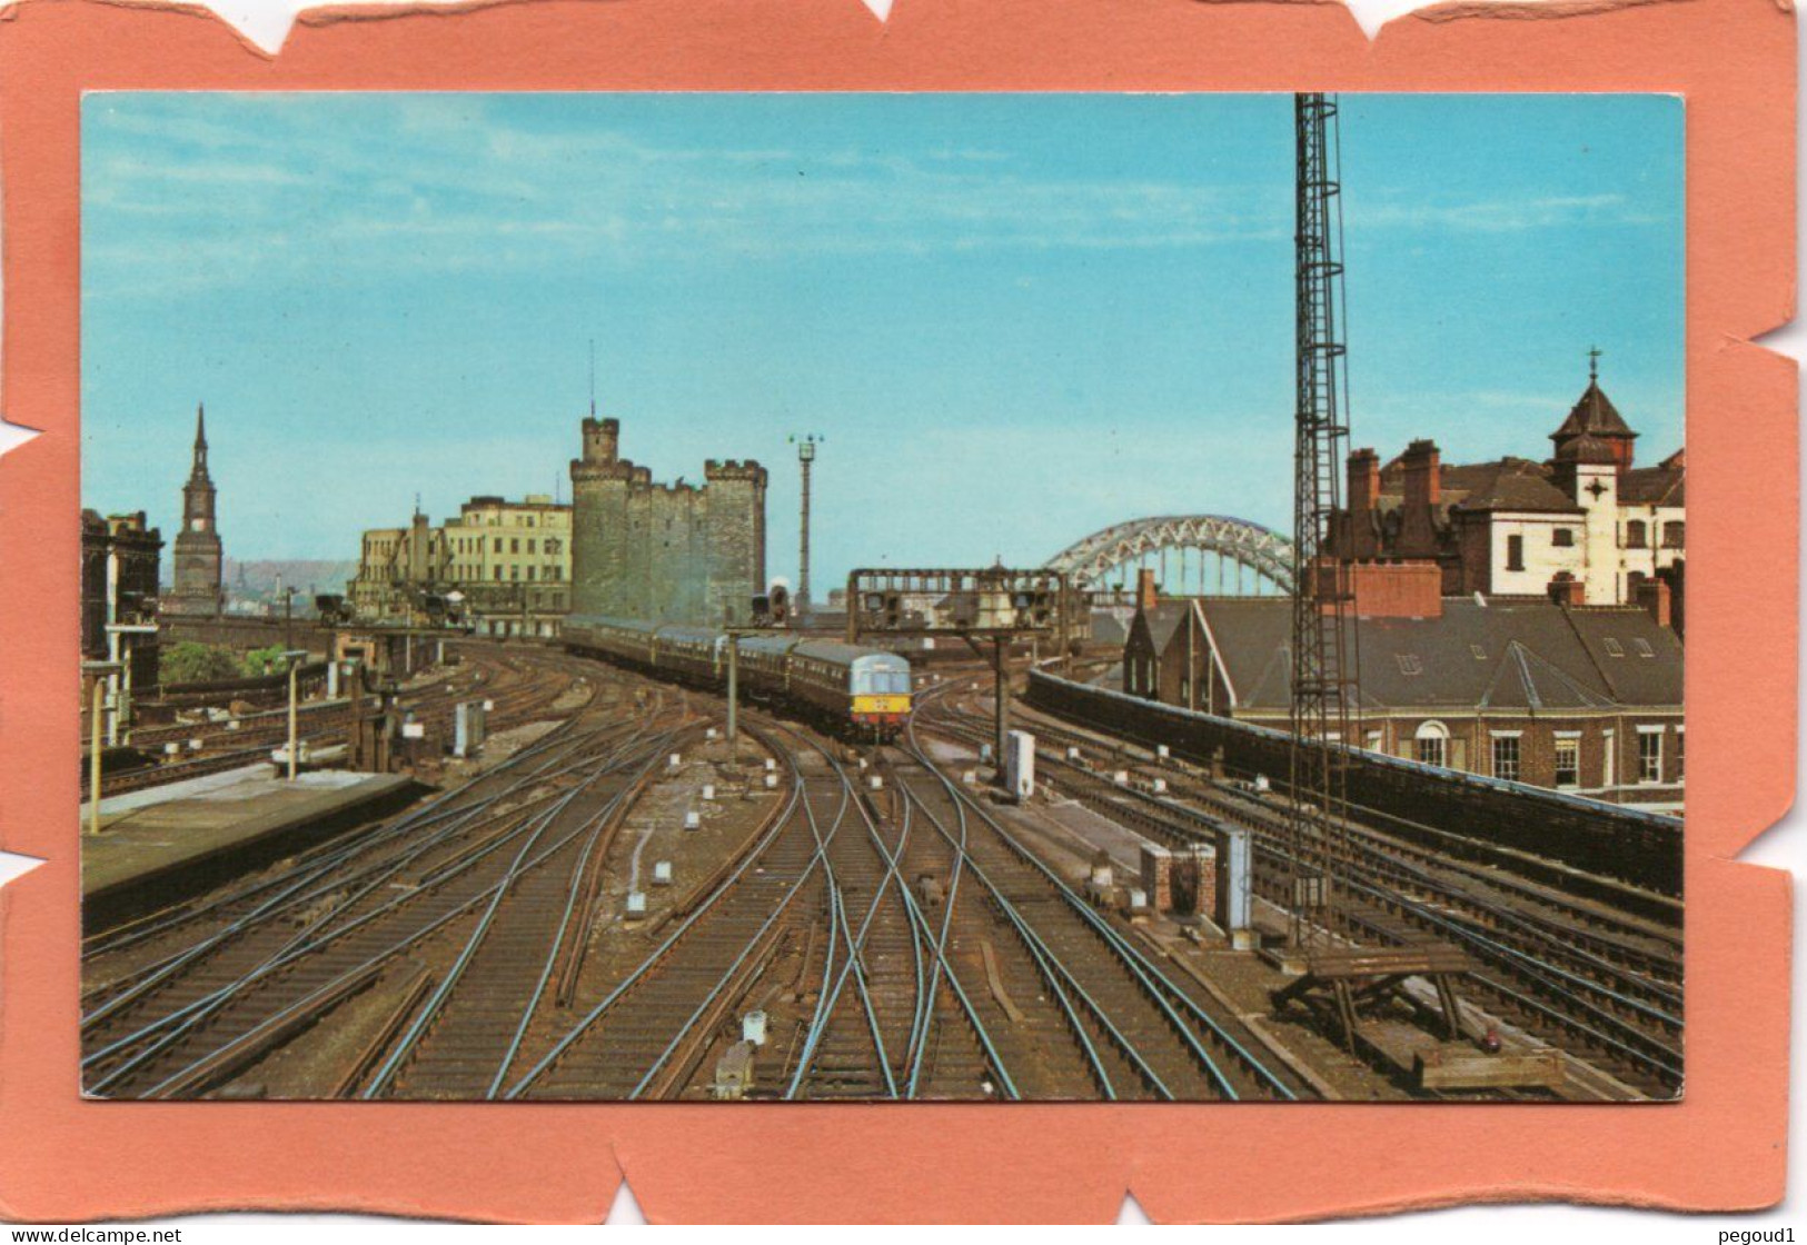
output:
[[[1433,564],[1359,567],[1359,743],[1453,770],[1679,811],[1682,643],[1668,584],[1637,605],[1442,596]],[[1158,598],[1144,576],[1124,690],[1285,730],[1292,604]]]

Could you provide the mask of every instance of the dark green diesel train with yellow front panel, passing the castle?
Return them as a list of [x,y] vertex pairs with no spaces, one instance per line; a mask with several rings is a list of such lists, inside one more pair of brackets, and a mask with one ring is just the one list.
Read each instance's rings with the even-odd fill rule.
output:
[[[728,683],[728,638],[710,627],[573,616],[564,647],[698,687]],[[793,634],[741,636],[741,688],[840,734],[891,739],[909,721],[909,661],[882,649]]]

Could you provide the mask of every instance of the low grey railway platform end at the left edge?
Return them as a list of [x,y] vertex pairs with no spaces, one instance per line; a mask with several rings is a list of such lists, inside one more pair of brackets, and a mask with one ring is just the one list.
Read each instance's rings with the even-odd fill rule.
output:
[[[110,929],[401,808],[403,775],[314,770],[293,782],[269,764],[101,800],[99,835],[81,837],[87,932]],[[87,826],[89,806],[81,806]]]

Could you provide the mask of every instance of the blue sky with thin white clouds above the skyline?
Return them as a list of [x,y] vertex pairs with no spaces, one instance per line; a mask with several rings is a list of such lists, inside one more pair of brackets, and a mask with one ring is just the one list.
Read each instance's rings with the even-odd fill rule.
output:
[[[1682,105],[1344,96],[1353,445],[1545,457],[1601,385],[1682,443]],[[83,103],[83,504],[235,558],[824,437],[813,578],[1290,524],[1292,98],[210,94]]]

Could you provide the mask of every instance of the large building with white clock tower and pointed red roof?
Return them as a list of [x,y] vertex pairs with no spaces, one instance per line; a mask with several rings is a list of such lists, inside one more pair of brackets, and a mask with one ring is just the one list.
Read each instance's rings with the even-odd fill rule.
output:
[[1590,367],[1549,461],[1449,464],[1413,441],[1382,466],[1355,450],[1332,544],[1357,560],[1435,562],[1447,596],[1541,596],[1561,580],[1588,605],[1624,605],[1662,578],[1681,632],[1688,461],[1677,450],[1634,466],[1635,439]]

